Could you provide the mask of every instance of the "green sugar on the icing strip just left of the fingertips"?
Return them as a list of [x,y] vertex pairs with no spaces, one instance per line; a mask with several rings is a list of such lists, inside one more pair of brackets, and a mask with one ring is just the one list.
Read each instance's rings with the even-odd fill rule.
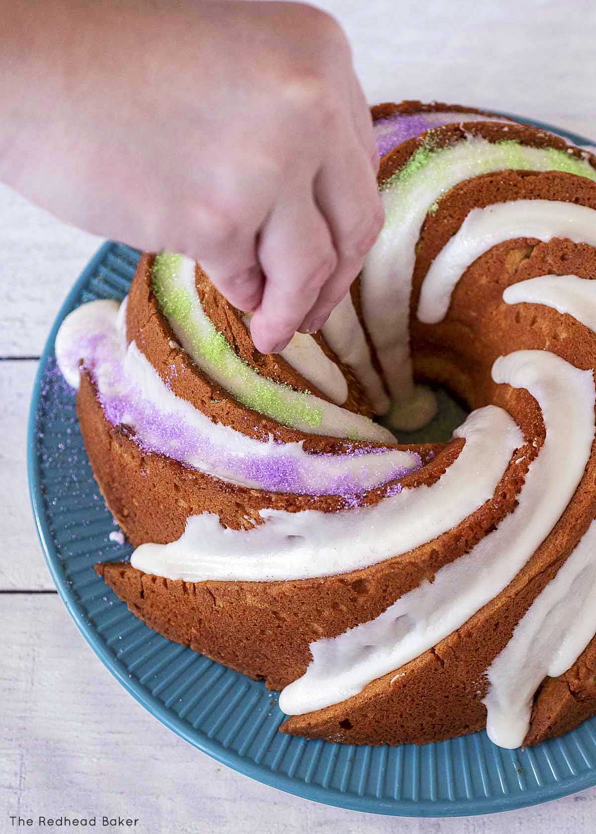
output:
[[178,283],[182,263],[182,256],[177,254],[162,252],[156,255],[152,289],[170,324],[175,323],[183,330],[194,361],[207,373],[216,369],[219,377],[229,378],[230,393],[250,409],[294,428],[301,424],[318,428],[323,419],[322,405],[309,402],[308,393],[260,376],[235,354],[224,334],[215,329],[205,313],[194,309],[200,305],[198,296],[193,299]]

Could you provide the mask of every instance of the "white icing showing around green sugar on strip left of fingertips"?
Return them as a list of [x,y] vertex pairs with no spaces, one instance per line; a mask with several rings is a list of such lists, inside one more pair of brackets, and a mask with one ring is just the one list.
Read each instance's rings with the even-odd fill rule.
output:
[[[170,276],[170,291],[183,292],[188,296],[189,309],[188,318],[179,321],[169,317],[168,321],[174,331],[176,339],[182,348],[189,354],[189,357],[203,370],[210,375],[210,378],[219,383],[226,391],[230,391],[235,397],[242,401],[243,394],[251,384],[259,385],[262,389],[270,389],[277,397],[285,401],[296,399],[298,394],[289,386],[266,379],[255,369],[241,362],[233,353],[224,355],[223,364],[210,361],[205,355],[197,354],[194,349],[193,332],[200,333],[205,338],[209,337],[213,324],[205,314],[203,305],[200,302],[194,278],[194,260],[180,255],[179,269],[173,270]],[[296,419],[294,427],[307,434],[328,435],[331,437],[349,437],[357,440],[372,440],[381,443],[395,443],[391,432],[381,425],[373,423],[369,418],[361,414],[355,414],[347,409],[333,403],[327,403],[321,397],[314,394],[300,394],[301,401],[313,409],[319,409],[321,420],[316,425],[311,425],[306,420]]]

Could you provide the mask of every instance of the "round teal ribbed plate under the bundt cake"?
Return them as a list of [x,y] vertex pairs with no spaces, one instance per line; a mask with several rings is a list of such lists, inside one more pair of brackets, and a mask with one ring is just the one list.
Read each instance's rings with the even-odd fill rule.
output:
[[275,693],[165,640],[104,585],[93,564],[126,559],[131,548],[109,539],[117,528],[93,480],[75,397],[56,368],[53,344],[64,316],[79,304],[123,299],[138,259],[136,250],[107,243],[83,271],[43,351],[29,418],[29,487],[48,567],[70,615],[109,671],[201,751],[267,785],[328,805],[397,816],[462,816],[533,805],[596,784],[596,719],[524,751],[494,746],[484,731],[396,747],[281,735],[284,714]]

